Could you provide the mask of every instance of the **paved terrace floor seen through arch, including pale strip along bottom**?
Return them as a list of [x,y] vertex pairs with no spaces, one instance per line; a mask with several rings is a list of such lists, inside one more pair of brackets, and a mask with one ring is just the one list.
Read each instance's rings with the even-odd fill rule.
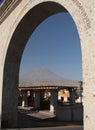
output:
[[49,111],[19,107],[18,129],[12,130],[83,130],[83,125],[81,122],[58,121]]

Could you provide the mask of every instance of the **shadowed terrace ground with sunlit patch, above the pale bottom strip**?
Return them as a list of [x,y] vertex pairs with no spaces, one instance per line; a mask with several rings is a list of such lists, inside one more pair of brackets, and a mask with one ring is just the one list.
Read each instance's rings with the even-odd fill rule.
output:
[[56,127],[56,126],[77,126],[82,122],[63,122],[48,111],[37,111],[34,109],[18,109],[18,128]]

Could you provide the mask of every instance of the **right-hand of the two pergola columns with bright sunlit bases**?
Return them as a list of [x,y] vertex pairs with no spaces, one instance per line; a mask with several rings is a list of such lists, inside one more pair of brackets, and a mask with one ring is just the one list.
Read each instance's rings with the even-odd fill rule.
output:
[[51,91],[51,99],[50,99],[50,111],[55,112],[57,108],[57,99],[58,99],[58,91]]

